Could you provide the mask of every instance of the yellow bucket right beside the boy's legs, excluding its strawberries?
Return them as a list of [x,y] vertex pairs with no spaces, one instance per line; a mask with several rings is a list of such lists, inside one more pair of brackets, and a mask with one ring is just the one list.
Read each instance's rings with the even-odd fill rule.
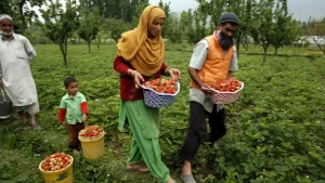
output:
[[[81,131],[80,131],[81,132]],[[81,143],[82,154],[88,159],[96,159],[104,155],[104,135],[102,131],[96,136],[81,136],[80,132],[78,139]]]

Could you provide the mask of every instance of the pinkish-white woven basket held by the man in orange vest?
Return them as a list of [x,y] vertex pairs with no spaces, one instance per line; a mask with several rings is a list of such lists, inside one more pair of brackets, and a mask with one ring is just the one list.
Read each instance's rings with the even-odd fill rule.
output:
[[210,95],[214,104],[231,104],[237,101],[240,95],[240,91],[244,89],[244,82],[240,82],[240,89],[234,92],[221,92],[213,90],[213,93]]

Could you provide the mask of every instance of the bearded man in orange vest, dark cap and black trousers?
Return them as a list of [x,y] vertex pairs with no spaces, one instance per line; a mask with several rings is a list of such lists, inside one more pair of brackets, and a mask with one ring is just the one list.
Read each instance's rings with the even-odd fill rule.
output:
[[[199,145],[205,141],[213,145],[226,132],[223,105],[213,104],[209,94],[212,92],[210,86],[220,79],[232,78],[232,73],[238,69],[234,47],[234,34],[238,25],[238,17],[234,13],[222,14],[217,30],[194,48],[188,67],[190,129],[180,149],[180,156],[184,159],[181,175],[184,183],[196,183],[192,174],[191,160]],[[206,117],[209,119],[209,133]]]

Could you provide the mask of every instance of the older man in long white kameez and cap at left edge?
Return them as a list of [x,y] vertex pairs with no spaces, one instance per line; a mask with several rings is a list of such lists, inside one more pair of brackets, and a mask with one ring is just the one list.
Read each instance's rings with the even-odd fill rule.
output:
[[36,52],[24,36],[13,32],[13,21],[9,15],[0,15],[0,87],[4,89],[21,117],[16,130],[27,126],[26,110],[30,115],[34,129],[40,129],[36,123],[39,113],[38,95],[30,71],[30,61]]

